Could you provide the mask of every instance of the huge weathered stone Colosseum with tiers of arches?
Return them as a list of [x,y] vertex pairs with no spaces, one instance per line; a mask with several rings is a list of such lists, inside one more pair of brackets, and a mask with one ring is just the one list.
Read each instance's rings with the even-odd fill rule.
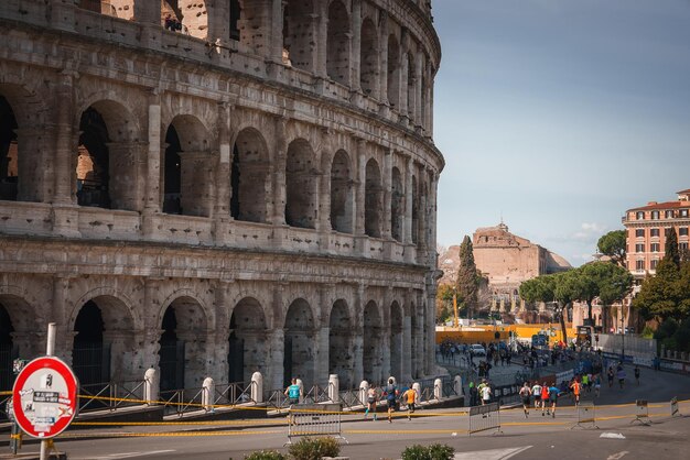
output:
[[0,358],[161,390],[434,364],[422,0],[2,0]]

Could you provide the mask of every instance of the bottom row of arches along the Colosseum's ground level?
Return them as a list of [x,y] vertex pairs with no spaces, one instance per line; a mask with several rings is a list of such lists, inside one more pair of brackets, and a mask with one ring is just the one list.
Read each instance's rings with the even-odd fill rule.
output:
[[[26,328],[35,327],[21,324],[19,319],[29,308],[21,298],[0,296],[2,390],[11,386],[11,360],[19,354],[15,339],[25,340],[24,336],[30,333]],[[121,299],[98,295],[74,310],[65,325],[72,331],[67,335],[73,337],[72,342],[68,338],[65,342],[71,350],[62,351],[72,355],[73,369],[82,385],[140,380],[148,366],[158,365],[162,391],[200,386],[203,379],[214,372],[209,366],[226,369],[224,375],[216,374],[216,379],[228,383],[247,383],[251,374],[259,371],[263,375],[280,374],[282,384],[299,376],[311,385],[327,380],[328,374],[338,374],[344,387],[354,387],[363,376],[371,382],[382,382],[390,374],[400,376],[406,347],[411,347],[410,355],[416,355],[418,341],[414,339],[421,337],[419,327],[423,322],[418,315],[423,313],[413,307],[406,313],[398,302],[381,307],[376,300],[369,300],[357,313],[347,300],[337,299],[327,311],[328,320],[323,325],[327,325],[327,369],[319,369],[317,354],[326,352],[319,349],[322,326],[304,298],[294,299],[283,322],[273,328],[257,298],[240,299],[226,327],[219,328],[225,344],[218,347],[219,342],[213,341],[217,331],[211,330],[202,305],[191,296],[179,296],[163,308],[153,329],[157,333],[151,350],[155,355],[144,357],[147,347],[142,347],[141,340],[145,333],[138,325],[140,319]],[[406,330],[411,340],[403,340]],[[223,357],[216,355],[218,350]],[[271,368],[280,353],[278,361],[282,361],[282,365]],[[412,372],[419,375],[420,370]]]

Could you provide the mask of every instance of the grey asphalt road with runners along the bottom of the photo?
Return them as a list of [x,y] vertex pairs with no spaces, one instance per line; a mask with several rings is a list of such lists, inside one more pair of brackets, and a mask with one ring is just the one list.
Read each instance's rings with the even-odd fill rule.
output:
[[[632,370],[628,370],[632,375]],[[593,398],[593,394],[585,395]],[[392,424],[363,420],[360,415],[344,416],[342,456],[352,459],[399,459],[413,443],[441,442],[455,448],[456,459],[681,459],[690,451],[690,416],[670,416],[669,399],[690,398],[690,377],[643,370],[640,385],[627,382],[608,387],[604,382],[595,401],[595,421],[578,425],[578,409],[569,397],[559,401],[556,417],[521,408],[500,413],[500,432],[487,430],[470,436],[468,417],[459,409],[424,409],[408,421]],[[649,401],[649,426],[634,421],[638,398]],[[690,401],[681,402],[680,414],[690,415]],[[422,417],[422,415],[424,415]],[[594,427],[596,425],[596,427]],[[128,436],[117,438],[58,439],[57,447],[72,460],[115,459],[242,459],[261,449],[287,452],[287,426],[281,420],[202,427],[126,427],[89,431],[73,430],[67,436]],[[23,451],[37,451],[36,445]]]

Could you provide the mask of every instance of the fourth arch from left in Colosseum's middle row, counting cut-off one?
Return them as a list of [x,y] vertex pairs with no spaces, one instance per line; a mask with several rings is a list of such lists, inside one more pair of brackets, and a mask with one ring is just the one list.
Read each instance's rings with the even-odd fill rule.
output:
[[254,129],[242,130],[233,151],[230,215],[237,220],[266,222],[268,151]]

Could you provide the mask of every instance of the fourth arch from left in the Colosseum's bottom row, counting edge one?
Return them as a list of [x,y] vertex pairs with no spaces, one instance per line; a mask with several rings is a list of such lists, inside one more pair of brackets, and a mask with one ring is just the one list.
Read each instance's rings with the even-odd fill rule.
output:
[[228,348],[228,382],[251,381],[251,374],[266,375],[266,317],[259,302],[251,297],[241,299],[230,317]]

